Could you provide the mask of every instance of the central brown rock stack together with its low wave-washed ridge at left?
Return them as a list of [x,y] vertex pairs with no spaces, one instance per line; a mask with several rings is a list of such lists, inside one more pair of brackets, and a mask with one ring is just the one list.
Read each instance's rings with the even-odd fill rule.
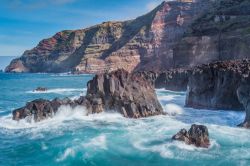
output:
[[127,118],[141,118],[164,114],[157,100],[153,84],[135,74],[118,70],[110,74],[96,75],[88,82],[86,97],[52,101],[38,99],[13,111],[13,119],[39,122],[52,117],[61,106],[83,106],[88,114],[116,111]]

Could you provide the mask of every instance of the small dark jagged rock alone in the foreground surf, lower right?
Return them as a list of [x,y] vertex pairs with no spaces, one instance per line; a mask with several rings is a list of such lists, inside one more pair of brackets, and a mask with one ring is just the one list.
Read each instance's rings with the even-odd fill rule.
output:
[[181,129],[172,139],[202,148],[208,148],[210,145],[208,129],[203,125],[194,124],[189,131]]

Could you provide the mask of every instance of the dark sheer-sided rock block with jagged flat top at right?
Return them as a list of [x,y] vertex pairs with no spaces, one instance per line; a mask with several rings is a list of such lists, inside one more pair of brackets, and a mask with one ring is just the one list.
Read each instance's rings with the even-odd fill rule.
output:
[[243,110],[236,90],[249,77],[250,61],[224,61],[194,68],[189,77],[186,106]]

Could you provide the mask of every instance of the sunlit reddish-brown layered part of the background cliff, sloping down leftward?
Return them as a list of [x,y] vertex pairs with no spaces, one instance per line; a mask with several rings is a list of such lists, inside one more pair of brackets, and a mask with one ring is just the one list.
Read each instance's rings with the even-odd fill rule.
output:
[[129,72],[173,68],[178,62],[175,45],[210,5],[210,0],[163,2],[134,20],[62,31],[25,51],[6,72],[102,73],[120,68]]

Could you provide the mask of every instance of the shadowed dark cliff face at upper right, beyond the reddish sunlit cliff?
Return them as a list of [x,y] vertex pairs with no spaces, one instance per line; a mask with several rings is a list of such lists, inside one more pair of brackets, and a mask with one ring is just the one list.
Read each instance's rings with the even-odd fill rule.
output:
[[176,67],[250,58],[250,1],[219,0],[174,49]]

